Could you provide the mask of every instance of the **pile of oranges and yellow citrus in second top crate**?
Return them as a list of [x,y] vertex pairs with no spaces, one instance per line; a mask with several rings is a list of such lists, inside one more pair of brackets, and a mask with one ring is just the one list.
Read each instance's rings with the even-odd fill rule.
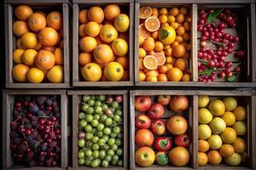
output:
[[129,80],[130,20],[116,4],[79,11],[79,65],[87,82]]

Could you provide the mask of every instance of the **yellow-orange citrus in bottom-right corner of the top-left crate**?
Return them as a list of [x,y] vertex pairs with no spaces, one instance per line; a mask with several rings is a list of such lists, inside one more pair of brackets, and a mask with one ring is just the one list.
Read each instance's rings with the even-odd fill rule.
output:
[[54,82],[54,83],[63,82],[63,77],[64,77],[64,71],[61,65],[55,65],[47,72],[47,78],[49,82]]

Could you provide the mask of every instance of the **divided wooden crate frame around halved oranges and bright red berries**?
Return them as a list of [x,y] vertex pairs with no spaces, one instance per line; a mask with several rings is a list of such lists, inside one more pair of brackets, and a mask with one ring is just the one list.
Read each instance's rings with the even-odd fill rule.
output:
[[[189,60],[189,70],[191,71],[192,80],[191,82],[139,82],[138,79],[138,26],[139,26],[139,8],[143,6],[150,6],[150,7],[180,7],[180,6],[189,6],[190,13],[192,17],[191,22],[191,52],[190,52],[190,60]],[[198,8],[236,8],[238,10],[247,11],[245,20],[247,22],[247,37],[246,43],[247,43],[247,59],[246,59],[246,66],[247,69],[244,70],[246,76],[242,80],[242,82],[198,82],[198,61],[197,61],[197,49],[200,46],[197,41],[197,11]],[[255,65],[256,65],[256,59],[253,57],[256,55],[255,52],[255,3],[252,0],[247,1],[239,1],[239,0],[228,0],[228,1],[213,1],[213,0],[197,0],[197,1],[189,1],[189,0],[183,0],[183,1],[172,1],[168,2],[166,0],[160,0],[160,1],[149,1],[149,0],[137,0],[135,4],[135,84],[136,86],[152,86],[152,87],[167,87],[167,86],[183,86],[183,87],[206,87],[206,88],[212,88],[212,87],[230,87],[230,88],[237,88],[237,87],[255,87],[256,86],[256,71],[255,71]]]

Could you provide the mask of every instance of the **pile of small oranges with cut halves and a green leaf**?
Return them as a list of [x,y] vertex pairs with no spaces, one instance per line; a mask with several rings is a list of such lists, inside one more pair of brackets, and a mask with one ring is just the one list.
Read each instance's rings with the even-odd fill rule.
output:
[[189,8],[140,8],[139,81],[189,82]]

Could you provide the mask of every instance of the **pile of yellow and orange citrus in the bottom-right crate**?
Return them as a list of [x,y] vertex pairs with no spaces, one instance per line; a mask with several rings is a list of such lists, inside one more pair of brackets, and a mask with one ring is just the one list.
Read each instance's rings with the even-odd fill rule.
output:
[[234,97],[198,99],[198,165],[247,160],[247,109]]

